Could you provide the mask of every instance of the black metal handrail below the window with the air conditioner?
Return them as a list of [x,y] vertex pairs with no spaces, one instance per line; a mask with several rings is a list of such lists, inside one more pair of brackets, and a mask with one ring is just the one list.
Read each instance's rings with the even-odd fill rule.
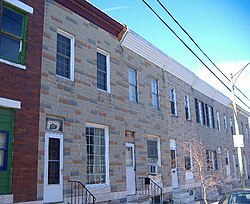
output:
[[140,177],[141,193],[150,196],[153,204],[163,203],[163,189],[148,177]]

